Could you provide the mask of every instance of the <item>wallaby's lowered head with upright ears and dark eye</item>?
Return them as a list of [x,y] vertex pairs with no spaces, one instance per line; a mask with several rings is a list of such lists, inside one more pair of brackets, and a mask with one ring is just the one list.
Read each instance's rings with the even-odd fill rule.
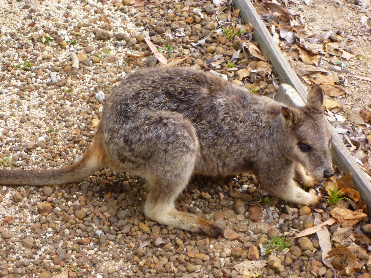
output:
[[324,95],[319,85],[312,85],[304,107],[281,107],[285,129],[294,137],[294,156],[319,179],[334,175],[331,164],[331,132],[323,113]]

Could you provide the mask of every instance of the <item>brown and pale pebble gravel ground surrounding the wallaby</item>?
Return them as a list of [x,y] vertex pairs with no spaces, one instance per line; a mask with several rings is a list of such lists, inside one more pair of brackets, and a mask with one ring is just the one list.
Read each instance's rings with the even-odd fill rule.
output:
[[[80,159],[116,82],[137,67],[164,66],[152,56],[144,36],[160,47],[168,62],[182,60],[179,66],[214,70],[254,93],[275,94],[274,70],[248,50],[251,43],[258,46],[251,42],[251,33],[229,39],[218,28],[218,23],[234,19],[241,23],[230,6],[193,0],[128,4],[0,0],[3,168],[48,169]],[[78,68],[71,52],[77,54]],[[255,176],[196,177],[178,198],[179,210],[223,229],[224,238],[217,239],[145,218],[146,187],[140,177],[108,169],[63,187],[3,186],[0,277],[48,278],[66,270],[69,277],[240,278],[233,268],[237,263],[264,259],[264,278],[313,277],[311,272],[334,277],[321,262],[316,235],[292,240],[290,251],[280,257],[259,248],[275,236],[288,241],[312,227],[314,217],[299,221],[299,215],[310,215],[312,209],[266,199]],[[331,208],[336,206],[349,203],[339,201]],[[329,215],[320,217],[325,221]],[[367,223],[368,218],[362,219],[362,227]],[[338,227],[332,225],[330,232]],[[366,228],[365,233],[371,232]],[[357,274],[368,278],[366,249],[350,240],[345,245],[365,265]],[[338,257],[335,268],[341,271],[345,259]]]

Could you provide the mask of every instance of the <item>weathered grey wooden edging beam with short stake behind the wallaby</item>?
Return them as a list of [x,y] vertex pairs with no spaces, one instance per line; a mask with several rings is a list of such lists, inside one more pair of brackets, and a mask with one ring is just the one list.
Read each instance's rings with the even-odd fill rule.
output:
[[[248,19],[254,26],[254,39],[259,42],[259,47],[263,50],[270,59],[272,66],[278,72],[280,82],[291,85],[296,90],[298,95],[286,85],[280,86],[276,95],[276,100],[286,103],[287,105],[302,106],[306,103],[307,91],[301,83],[299,77],[290,67],[289,63],[283,56],[281,50],[273,41],[272,36],[260,19],[255,8],[249,0],[233,0],[234,6],[240,8],[240,16],[243,19]],[[301,100],[299,100],[301,98]],[[345,173],[352,172],[353,183],[358,189],[362,200],[367,202],[368,209],[371,211],[371,182],[368,176],[359,164],[353,159],[349,150],[345,147],[338,134],[328,122],[328,127],[332,132],[332,159],[334,163],[340,167]]]

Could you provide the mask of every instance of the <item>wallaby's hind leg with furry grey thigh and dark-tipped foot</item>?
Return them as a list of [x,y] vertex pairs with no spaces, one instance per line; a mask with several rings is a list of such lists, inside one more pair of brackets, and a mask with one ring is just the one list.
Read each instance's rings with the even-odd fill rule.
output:
[[119,167],[147,179],[145,214],[159,224],[220,235],[216,225],[174,208],[174,200],[187,186],[199,155],[199,142],[191,122],[179,113],[161,111],[136,115],[130,125],[116,130],[122,129],[125,134],[120,140],[125,144],[116,142],[115,136],[107,148],[119,154],[116,158],[121,163]]

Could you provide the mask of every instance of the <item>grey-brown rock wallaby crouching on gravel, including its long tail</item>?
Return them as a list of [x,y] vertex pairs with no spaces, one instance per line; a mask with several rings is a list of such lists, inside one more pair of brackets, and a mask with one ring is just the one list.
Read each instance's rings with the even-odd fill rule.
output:
[[301,205],[320,197],[294,181],[334,175],[323,93],[313,85],[304,107],[285,107],[207,72],[137,70],[112,92],[91,146],[71,166],[0,170],[1,185],[63,185],[108,167],[145,178],[145,214],[163,225],[220,235],[204,218],[177,211],[174,200],[192,175],[254,172],[272,196]]

